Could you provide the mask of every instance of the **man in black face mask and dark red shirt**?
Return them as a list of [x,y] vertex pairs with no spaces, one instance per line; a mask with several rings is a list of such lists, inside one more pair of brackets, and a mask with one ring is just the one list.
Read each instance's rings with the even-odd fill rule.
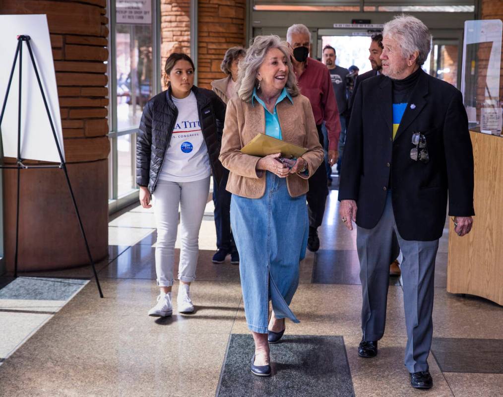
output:
[[[311,33],[305,25],[297,24],[288,28],[288,45],[292,51],[292,63],[297,76],[300,92],[309,98],[313,110],[314,120],[318,128],[318,136],[323,145],[321,124],[324,121],[328,132],[328,164],[330,167],[337,161],[337,146],[341,134],[341,121],[337,108],[336,96],[333,92],[330,72],[326,66],[309,57]],[[326,186],[326,171],[319,167],[314,175],[309,178],[309,191],[307,193],[307,206],[309,212],[309,238],[307,248],[318,251],[318,227],[323,220],[325,201],[328,196]]]

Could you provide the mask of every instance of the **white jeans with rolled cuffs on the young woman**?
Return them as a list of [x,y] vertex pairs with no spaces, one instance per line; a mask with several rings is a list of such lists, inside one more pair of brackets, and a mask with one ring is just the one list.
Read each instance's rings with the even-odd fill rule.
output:
[[157,181],[152,196],[157,226],[155,272],[159,287],[173,285],[179,205],[182,249],[180,250],[178,278],[185,282],[195,280],[199,254],[199,229],[209,190],[210,177],[194,182]]

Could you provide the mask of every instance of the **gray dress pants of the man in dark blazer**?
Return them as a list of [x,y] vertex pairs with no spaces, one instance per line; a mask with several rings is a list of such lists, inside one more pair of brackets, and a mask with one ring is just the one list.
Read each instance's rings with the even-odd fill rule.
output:
[[407,328],[404,363],[409,372],[426,371],[432,345],[435,257],[439,241],[402,239],[396,228],[390,191],[377,225],[372,229],[357,227],[360,280],[363,289],[363,340],[377,341],[384,335],[389,264],[394,259],[391,252],[393,231],[403,254],[400,269]]

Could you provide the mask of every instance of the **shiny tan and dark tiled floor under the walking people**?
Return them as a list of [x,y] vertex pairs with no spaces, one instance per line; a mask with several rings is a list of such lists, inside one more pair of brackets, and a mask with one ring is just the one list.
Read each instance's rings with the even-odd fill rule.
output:
[[[229,258],[221,265],[211,262],[216,239],[209,201],[200,233],[197,281],[191,288],[193,314],[178,313],[174,299],[172,317],[146,315],[158,293],[156,236],[152,211],[139,207],[110,222],[109,258],[97,264],[104,299],[99,298],[94,282],[69,300],[71,288],[51,295],[49,288],[23,290],[15,284],[26,282],[24,278],[0,278],[0,360],[20,343],[14,339],[11,343],[12,335],[28,332],[25,343],[0,366],[0,395],[367,397],[421,393],[411,389],[403,366],[406,334],[398,278],[390,278],[386,333],[378,357],[368,360],[357,355],[362,296],[356,232],[339,221],[337,194],[330,190],[319,229],[320,251],[308,253],[301,263],[300,284],[291,305],[301,323],[287,323],[284,341],[272,347],[271,378],[249,373],[253,341],[245,323],[239,268]],[[429,358],[435,385],[425,394],[503,395],[503,310],[484,299],[447,293],[446,266],[447,228],[435,273],[434,341]],[[89,268],[81,268],[45,275],[73,278],[64,281],[78,284],[83,283],[79,278],[89,278],[89,274]],[[177,291],[178,282],[174,296]],[[56,298],[60,300],[51,300]],[[15,306],[20,302],[22,309]],[[25,320],[21,316],[27,314],[18,312],[22,310],[39,317]],[[20,317],[18,323],[12,316],[4,317],[11,314]],[[31,338],[26,340],[28,335]]]

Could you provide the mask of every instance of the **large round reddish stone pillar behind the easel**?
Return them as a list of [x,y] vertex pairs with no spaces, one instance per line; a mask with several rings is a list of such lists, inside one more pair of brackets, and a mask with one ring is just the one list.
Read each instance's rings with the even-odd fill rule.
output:
[[[110,151],[108,77],[103,63],[108,59],[106,0],[4,0],[0,4],[2,14],[47,14],[68,173],[93,257],[101,260],[108,254]],[[12,62],[10,55],[4,58]],[[4,245],[7,271],[12,272],[17,173],[3,173]],[[19,270],[89,263],[61,170],[22,171],[20,205]]]

